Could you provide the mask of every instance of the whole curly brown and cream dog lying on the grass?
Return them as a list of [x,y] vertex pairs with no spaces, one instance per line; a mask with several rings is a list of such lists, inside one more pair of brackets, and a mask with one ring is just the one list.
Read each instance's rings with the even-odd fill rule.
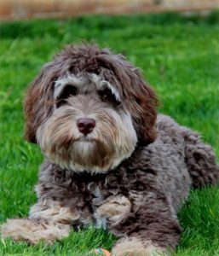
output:
[[156,113],[154,91],[122,55],[68,46],[26,95],[26,138],[45,155],[29,218],[3,237],[35,244],[95,224],[118,236],[113,255],[176,247],[176,213],[191,186],[216,184],[219,167],[199,134]]

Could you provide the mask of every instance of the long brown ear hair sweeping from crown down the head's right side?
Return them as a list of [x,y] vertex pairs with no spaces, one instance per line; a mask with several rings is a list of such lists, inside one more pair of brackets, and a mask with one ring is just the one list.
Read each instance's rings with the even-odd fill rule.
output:
[[[103,49],[97,59],[101,61],[102,67],[113,73],[112,83],[116,83],[123,94],[139,143],[152,143],[156,137],[155,121],[158,106],[154,90],[142,79],[139,69],[126,61],[123,55],[113,55],[108,49]],[[116,79],[113,79],[113,76]]]

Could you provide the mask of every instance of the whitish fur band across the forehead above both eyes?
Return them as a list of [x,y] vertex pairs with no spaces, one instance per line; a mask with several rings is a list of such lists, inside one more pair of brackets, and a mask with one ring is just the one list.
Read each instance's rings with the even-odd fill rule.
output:
[[66,84],[70,84],[79,88],[89,83],[94,83],[96,90],[111,90],[112,94],[116,97],[116,100],[118,102],[121,101],[117,88],[110,84],[107,80],[101,79],[101,77],[95,73],[78,73],[77,75],[66,73],[65,77],[55,81],[55,98],[60,95],[61,90],[66,86]]

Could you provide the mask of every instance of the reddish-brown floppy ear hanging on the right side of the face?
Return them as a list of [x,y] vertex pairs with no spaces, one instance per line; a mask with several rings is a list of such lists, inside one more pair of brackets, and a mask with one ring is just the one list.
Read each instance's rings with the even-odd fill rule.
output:
[[140,71],[130,66],[130,84],[124,84],[126,107],[133,118],[139,143],[153,143],[157,136],[158,97],[154,90],[142,79]]

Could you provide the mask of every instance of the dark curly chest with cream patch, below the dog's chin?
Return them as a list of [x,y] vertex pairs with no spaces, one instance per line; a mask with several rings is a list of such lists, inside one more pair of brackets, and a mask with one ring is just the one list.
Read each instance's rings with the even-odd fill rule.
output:
[[[81,212],[79,223],[93,222],[97,227],[106,228],[108,224],[116,224],[130,212],[131,191],[142,191],[145,185],[141,175],[135,170],[121,168],[116,172],[91,175],[66,171],[56,175],[56,183],[66,187],[69,200],[77,204]],[[87,212],[84,220],[84,209]]]

